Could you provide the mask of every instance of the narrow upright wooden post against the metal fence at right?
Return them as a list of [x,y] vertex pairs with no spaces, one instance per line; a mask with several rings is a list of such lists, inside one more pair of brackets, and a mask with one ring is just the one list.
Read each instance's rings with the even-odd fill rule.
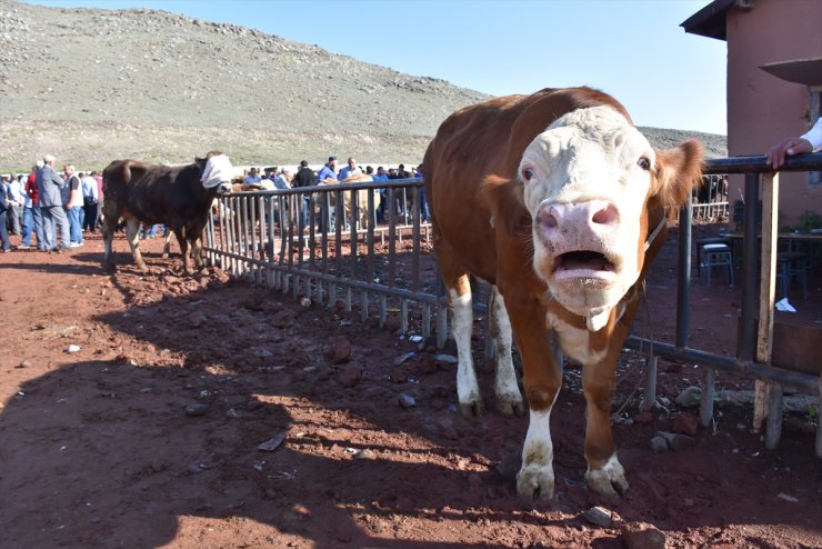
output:
[[[756,204],[746,204],[748,208],[756,208]],[[771,363],[771,351],[773,341],[773,307],[776,283],[776,232],[779,229],[779,173],[762,174],[762,267],[760,271],[760,301],[759,301],[759,326],[756,328],[756,361]],[[779,413],[779,418],[772,418],[768,428],[776,420],[781,423],[781,395],[769,397],[770,391],[782,391],[782,387],[773,386],[756,380],[753,400],[753,430],[759,432],[762,422],[770,412]],[[775,400],[779,399],[780,409],[775,410]],[[769,405],[770,402],[770,405]],[[779,442],[779,437],[775,443]]]

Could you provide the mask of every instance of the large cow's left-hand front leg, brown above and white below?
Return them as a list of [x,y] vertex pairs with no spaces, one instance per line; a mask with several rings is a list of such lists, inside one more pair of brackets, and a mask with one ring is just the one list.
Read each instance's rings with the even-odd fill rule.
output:
[[562,370],[551,349],[544,309],[538,302],[508,300],[517,345],[522,356],[522,380],[530,410],[528,435],[522,447],[522,468],[517,473],[517,495],[529,501],[553,497],[553,443],[551,408],[562,386]]

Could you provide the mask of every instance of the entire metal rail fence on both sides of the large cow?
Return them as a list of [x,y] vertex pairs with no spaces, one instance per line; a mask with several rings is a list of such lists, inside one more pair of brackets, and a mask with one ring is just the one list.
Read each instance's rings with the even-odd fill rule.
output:
[[[822,153],[790,158],[783,167],[783,171],[820,169]],[[642,351],[652,349],[645,401],[654,391],[656,357],[704,367],[700,416],[705,426],[713,415],[716,370],[768,383],[766,410],[755,411],[755,416],[768,417],[766,446],[773,447],[779,440],[782,386],[819,392],[822,400],[822,379],[775,368],[770,363],[770,355],[754,352],[771,337],[772,325],[769,327],[762,319],[772,315],[774,285],[773,269],[765,269],[773,258],[762,254],[761,262],[758,260],[756,231],[761,223],[755,219],[755,208],[744,212],[739,356],[692,349],[688,341],[692,224],[728,219],[726,176],[730,173],[745,174],[744,200],[758,203],[760,177],[765,173],[764,157],[708,161],[704,187],[708,191],[695,194],[692,203],[680,212],[676,340],[632,337],[625,346]],[[774,187],[771,176],[765,173],[763,188]],[[772,203],[774,193],[769,192],[768,200]],[[231,273],[292,293],[294,298],[331,305],[342,300],[347,311],[353,310],[357,303],[362,321],[377,317],[380,326],[384,326],[389,315],[397,315],[401,333],[418,331],[425,338],[432,335],[435,322],[441,347],[448,333],[447,305],[438,291],[439,277],[430,253],[431,227],[422,204],[419,179],[234,193],[219,199],[219,212],[208,224],[206,249],[212,261]],[[765,250],[765,243],[772,242],[762,232],[762,250]],[[771,289],[770,295],[765,288]],[[816,453],[822,457],[822,421],[820,426]]]

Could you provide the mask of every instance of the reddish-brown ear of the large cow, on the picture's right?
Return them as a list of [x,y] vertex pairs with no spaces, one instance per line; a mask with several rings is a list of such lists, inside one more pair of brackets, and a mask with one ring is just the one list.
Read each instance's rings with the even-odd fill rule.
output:
[[691,190],[702,182],[703,147],[690,139],[675,149],[656,151],[655,194],[663,206],[679,209],[688,202]]

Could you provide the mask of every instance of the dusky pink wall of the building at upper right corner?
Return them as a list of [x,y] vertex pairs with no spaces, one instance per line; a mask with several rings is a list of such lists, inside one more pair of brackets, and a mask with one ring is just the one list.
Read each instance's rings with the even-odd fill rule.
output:
[[[749,11],[728,11],[728,151],[763,154],[789,136],[800,136],[809,119],[809,89],[785,82],[759,67],[822,57],[822,1],[754,0]],[[729,199],[742,194],[742,177],[730,181]],[[805,173],[780,176],[780,226],[795,224],[805,210],[822,213],[822,186]]]

